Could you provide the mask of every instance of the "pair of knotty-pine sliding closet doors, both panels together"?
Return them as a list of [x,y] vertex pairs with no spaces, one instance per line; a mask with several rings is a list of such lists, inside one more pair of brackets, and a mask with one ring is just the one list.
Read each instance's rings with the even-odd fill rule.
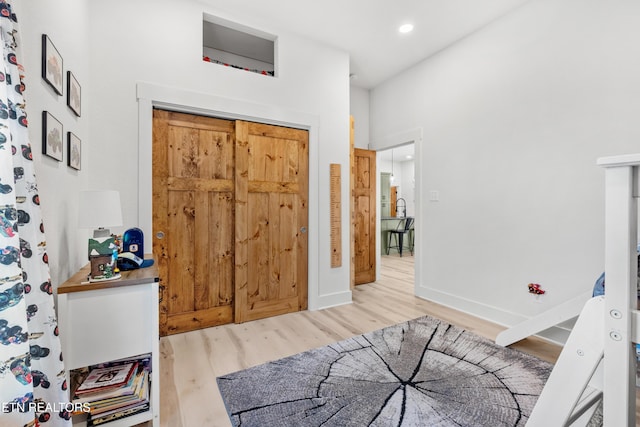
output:
[[307,307],[306,131],[154,111],[161,335]]

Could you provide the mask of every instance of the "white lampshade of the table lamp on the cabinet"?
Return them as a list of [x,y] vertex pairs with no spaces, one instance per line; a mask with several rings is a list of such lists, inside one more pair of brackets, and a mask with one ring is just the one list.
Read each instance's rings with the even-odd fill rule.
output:
[[106,227],[122,225],[120,193],[115,190],[81,191],[78,201],[78,226],[93,228],[93,237],[108,237]]

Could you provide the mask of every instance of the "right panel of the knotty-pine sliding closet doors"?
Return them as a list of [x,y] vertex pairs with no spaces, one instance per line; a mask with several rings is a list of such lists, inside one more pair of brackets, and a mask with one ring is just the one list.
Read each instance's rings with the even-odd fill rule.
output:
[[236,322],[307,308],[309,136],[236,122]]

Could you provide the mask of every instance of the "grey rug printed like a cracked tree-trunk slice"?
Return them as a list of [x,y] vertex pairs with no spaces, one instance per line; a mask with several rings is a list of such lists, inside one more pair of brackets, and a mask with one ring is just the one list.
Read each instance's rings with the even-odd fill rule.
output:
[[524,426],[552,368],[421,317],[217,382],[234,426]]

